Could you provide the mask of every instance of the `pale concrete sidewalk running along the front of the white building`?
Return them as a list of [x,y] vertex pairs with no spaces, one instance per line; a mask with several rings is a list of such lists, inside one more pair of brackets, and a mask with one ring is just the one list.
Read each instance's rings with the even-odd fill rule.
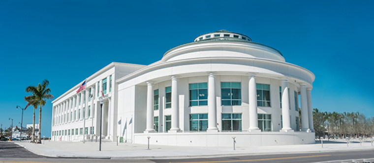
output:
[[[101,159],[161,159],[161,158],[198,158],[198,157],[224,157],[241,155],[267,155],[285,153],[324,153],[333,151],[374,150],[372,143],[367,141],[361,145],[353,140],[347,147],[345,140],[316,141],[316,144],[260,146],[260,147],[176,147],[143,144],[128,144],[116,142],[103,142],[99,151],[98,142],[58,142],[46,140],[44,144],[29,142],[14,142],[31,152],[49,157],[71,158],[101,158]],[[374,145],[374,144],[373,144]]]

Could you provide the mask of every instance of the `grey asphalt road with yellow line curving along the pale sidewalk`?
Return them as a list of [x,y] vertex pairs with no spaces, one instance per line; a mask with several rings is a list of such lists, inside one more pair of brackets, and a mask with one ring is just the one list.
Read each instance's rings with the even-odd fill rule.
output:
[[158,159],[158,160],[114,160],[114,159],[66,159],[35,155],[11,142],[0,142],[0,162],[2,163],[314,163],[333,160],[374,158],[374,150],[325,152],[304,154],[278,154],[237,156],[198,159]]

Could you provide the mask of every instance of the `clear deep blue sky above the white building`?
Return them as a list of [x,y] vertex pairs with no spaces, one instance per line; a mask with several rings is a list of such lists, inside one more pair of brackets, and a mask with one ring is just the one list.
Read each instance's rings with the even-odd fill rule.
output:
[[[57,98],[112,62],[149,65],[218,30],[246,34],[311,70],[313,108],[374,116],[373,8],[373,0],[0,0],[0,123],[20,126],[16,106],[43,79]],[[51,115],[48,100],[47,137]]]

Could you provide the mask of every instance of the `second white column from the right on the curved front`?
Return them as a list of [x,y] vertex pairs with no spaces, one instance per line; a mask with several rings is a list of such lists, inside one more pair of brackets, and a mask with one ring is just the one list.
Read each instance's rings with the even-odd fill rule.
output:
[[307,85],[301,84],[300,87],[300,98],[301,98],[301,123],[302,130],[310,132],[309,120],[308,120],[308,99],[307,99]]

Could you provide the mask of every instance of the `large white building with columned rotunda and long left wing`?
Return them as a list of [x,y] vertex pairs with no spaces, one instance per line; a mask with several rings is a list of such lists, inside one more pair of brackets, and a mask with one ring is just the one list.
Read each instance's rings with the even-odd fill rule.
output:
[[[314,74],[240,33],[206,33],[151,65],[111,63],[53,102],[52,140],[175,146],[314,143]],[[102,97],[102,93],[104,96]],[[300,104],[299,104],[300,98]],[[301,114],[299,115],[299,107]],[[301,121],[300,121],[301,119]],[[301,126],[300,123],[301,122]]]

